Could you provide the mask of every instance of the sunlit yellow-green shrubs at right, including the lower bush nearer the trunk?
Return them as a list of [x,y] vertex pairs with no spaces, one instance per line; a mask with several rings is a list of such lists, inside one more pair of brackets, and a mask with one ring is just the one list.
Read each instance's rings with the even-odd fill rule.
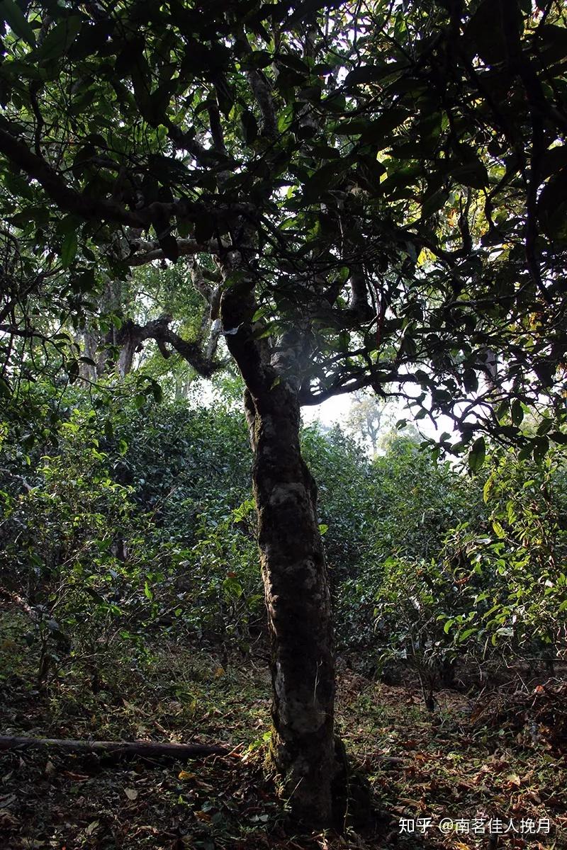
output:
[[553,663],[567,649],[563,458],[496,455],[473,499],[481,487],[487,510],[447,530],[433,558],[387,558],[365,585],[379,666],[412,666],[429,704],[457,659]]

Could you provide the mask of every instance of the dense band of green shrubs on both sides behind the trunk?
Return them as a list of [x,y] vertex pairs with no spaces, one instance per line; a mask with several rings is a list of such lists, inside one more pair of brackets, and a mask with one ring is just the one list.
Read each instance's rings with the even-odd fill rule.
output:
[[[2,589],[30,615],[40,678],[116,638],[204,641],[225,663],[264,646],[265,614],[242,416],[222,400],[106,402],[67,391],[59,443],[3,443]],[[95,397],[96,400],[96,397]],[[432,687],[458,660],[482,671],[561,658],[567,474],[496,453],[482,476],[415,439],[373,460],[335,427],[303,429],[319,484],[337,647],[366,671],[410,666]],[[264,651],[264,650],[262,650]],[[457,665],[458,667],[459,665]],[[464,669],[460,665],[461,671]],[[439,678],[440,677],[440,678]]]

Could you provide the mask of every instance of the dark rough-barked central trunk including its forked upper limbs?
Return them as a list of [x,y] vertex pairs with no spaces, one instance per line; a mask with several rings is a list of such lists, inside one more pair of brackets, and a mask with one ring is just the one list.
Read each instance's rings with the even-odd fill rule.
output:
[[246,251],[227,252],[220,318],[247,386],[252,483],[272,648],[271,757],[293,816],[333,820],[337,775],[331,595],[317,521],[315,481],[299,446],[301,329],[273,348],[252,316],[254,275]]

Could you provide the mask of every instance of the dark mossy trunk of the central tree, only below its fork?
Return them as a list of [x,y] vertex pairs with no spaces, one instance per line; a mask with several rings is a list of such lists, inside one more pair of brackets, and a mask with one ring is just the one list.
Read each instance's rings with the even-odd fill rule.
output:
[[295,817],[332,822],[332,609],[316,487],[299,447],[297,393],[281,382],[249,392],[253,486],[272,648],[271,757]]

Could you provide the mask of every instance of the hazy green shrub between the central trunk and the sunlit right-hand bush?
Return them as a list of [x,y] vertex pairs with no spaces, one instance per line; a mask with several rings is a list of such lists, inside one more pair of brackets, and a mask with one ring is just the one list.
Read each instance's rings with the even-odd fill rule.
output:
[[[366,479],[364,554],[359,569],[337,591],[337,628],[339,645],[367,652],[374,666],[381,606],[391,602],[393,609],[397,604],[404,609],[411,597],[422,596],[407,581],[420,570],[434,573],[430,563],[439,560],[446,533],[482,513],[482,493],[475,494],[468,479],[449,464],[435,462],[411,439],[394,440],[386,455],[371,463]],[[423,587],[425,597],[429,592]],[[396,649],[392,632],[394,653],[409,657],[414,637],[408,632],[408,645],[402,641]]]

